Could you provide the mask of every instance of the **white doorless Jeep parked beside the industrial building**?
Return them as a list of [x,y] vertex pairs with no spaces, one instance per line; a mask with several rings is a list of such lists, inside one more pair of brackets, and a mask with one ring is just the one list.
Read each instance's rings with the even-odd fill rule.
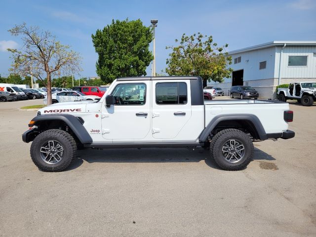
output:
[[295,99],[304,106],[311,106],[316,101],[316,82],[290,83],[288,88],[277,88],[276,94],[280,101]]

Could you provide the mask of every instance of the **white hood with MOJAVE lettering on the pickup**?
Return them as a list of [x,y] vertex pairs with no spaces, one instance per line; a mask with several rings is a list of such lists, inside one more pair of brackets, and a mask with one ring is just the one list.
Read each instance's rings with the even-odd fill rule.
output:
[[48,105],[38,111],[38,115],[84,113],[86,105],[93,101],[64,102]]

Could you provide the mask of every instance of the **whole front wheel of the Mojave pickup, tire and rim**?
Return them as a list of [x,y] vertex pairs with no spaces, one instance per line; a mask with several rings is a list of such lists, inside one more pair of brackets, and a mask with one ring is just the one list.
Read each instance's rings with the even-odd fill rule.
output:
[[31,158],[40,170],[58,172],[66,169],[76,158],[75,139],[66,131],[49,129],[32,142]]

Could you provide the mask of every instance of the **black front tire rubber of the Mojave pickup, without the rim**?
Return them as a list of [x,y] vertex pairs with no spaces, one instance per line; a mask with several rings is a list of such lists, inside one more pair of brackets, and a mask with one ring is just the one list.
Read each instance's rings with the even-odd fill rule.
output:
[[[63,147],[62,159],[56,164],[46,163],[40,154],[41,147],[50,140],[57,141]],[[75,139],[66,131],[49,129],[41,132],[32,142],[31,158],[41,171],[59,172],[65,170],[76,158],[77,144]]]

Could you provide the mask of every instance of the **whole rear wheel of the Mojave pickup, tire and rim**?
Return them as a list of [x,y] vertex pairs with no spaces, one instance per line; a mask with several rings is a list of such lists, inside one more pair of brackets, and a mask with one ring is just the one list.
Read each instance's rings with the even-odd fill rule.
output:
[[229,128],[217,133],[210,143],[210,156],[224,170],[241,170],[253,156],[253,144],[244,132]]

